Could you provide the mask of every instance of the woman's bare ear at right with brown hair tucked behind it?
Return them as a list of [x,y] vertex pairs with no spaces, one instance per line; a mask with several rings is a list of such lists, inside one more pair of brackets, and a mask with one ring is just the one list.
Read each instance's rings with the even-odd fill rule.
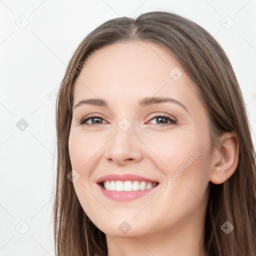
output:
[[214,149],[209,180],[221,184],[234,173],[239,160],[239,139],[236,132],[224,132]]

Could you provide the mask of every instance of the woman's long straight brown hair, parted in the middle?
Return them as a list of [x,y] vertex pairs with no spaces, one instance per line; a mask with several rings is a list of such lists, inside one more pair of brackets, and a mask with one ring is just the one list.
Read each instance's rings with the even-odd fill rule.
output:
[[[239,161],[235,172],[222,184],[210,182],[203,242],[209,256],[255,256],[255,150],[236,76],[222,47],[206,30],[189,19],[165,11],[142,13],[136,19],[118,17],[104,22],[82,40],[68,63],[56,100],[55,255],[107,254],[105,234],[86,216],[73,183],[67,178],[71,171],[68,136],[73,85],[80,71],[79,63],[95,49],[129,40],[156,42],[176,57],[196,84],[207,109],[212,148],[222,132],[237,133]],[[227,220],[234,226],[229,234],[221,230]]]

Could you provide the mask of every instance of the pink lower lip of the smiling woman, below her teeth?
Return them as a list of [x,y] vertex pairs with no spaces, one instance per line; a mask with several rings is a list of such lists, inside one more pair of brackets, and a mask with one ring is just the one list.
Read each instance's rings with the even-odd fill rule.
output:
[[137,191],[110,191],[101,187],[100,184],[97,184],[99,189],[106,197],[116,200],[116,201],[129,201],[136,199],[138,197],[142,197],[146,195],[148,192],[152,191],[156,186],[146,189],[146,190],[137,190]]

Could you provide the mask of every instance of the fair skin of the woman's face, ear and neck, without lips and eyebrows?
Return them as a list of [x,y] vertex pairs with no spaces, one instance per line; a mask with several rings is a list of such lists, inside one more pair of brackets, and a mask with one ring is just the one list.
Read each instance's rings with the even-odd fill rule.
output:
[[[183,72],[177,80],[169,75],[174,67]],[[223,133],[211,155],[207,111],[195,84],[179,62],[153,42],[118,42],[100,48],[74,86],[73,106],[84,98],[103,98],[109,104],[73,108],[68,140],[72,169],[80,175],[73,183],[76,195],[87,216],[106,234],[107,255],[207,255],[200,245],[209,181],[222,183],[234,172],[236,134]],[[140,99],[152,96],[174,98],[188,111],[170,102],[138,105]],[[88,114],[102,119],[98,125],[95,119],[79,125]],[[161,114],[177,122],[162,119],[161,124],[155,118]],[[125,132],[118,126],[123,118],[131,124]],[[197,151],[200,156],[149,201]],[[138,174],[159,184],[143,197],[114,201],[102,195],[95,183],[110,173]],[[131,227],[125,234],[118,228],[124,220]]]

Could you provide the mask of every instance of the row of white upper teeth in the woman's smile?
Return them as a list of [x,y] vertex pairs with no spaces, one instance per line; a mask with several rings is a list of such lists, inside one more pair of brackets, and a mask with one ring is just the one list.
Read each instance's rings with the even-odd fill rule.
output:
[[119,180],[107,180],[103,182],[104,188],[110,191],[137,191],[150,189],[157,185],[156,182],[147,181],[119,181]]

